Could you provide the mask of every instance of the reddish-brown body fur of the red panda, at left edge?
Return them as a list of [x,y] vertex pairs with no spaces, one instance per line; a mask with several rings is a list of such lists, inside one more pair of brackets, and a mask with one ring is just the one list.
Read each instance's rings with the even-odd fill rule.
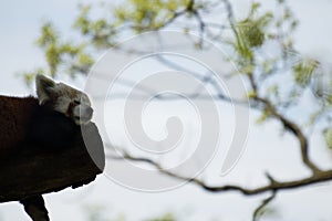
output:
[[0,157],[24,141],[28,124],[38,106],[34,97],[0,96]]

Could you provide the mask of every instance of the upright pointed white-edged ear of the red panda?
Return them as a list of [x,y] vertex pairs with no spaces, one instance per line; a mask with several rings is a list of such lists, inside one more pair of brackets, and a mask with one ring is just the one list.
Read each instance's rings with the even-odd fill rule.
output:
[[50,95],[55,85],[55,82],[44,75],[38,74],[35,76],[37,95],[40,105],[51,99]]

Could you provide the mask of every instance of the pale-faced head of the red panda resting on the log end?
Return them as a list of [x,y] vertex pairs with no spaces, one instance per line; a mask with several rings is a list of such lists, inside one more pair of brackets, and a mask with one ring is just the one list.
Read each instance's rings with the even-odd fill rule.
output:
[[70,117],[77,125],[90,123],[93,114],[87,95],[63,83],[55,83],[44,75],[35,77],[40,105],[48,104],[55,112]]

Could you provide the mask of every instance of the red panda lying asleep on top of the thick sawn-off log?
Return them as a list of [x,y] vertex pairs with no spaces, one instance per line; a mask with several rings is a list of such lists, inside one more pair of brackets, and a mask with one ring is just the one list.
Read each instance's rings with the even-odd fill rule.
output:
[[61,147],[93,114],[86,94],[63,83],[37,75],[35,97],[0,96],[0,157],[22,143]]

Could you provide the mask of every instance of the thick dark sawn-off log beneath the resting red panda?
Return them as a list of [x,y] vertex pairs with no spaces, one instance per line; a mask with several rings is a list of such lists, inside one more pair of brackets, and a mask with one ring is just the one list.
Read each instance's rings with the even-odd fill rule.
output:
[[82,131],[86,136],[83,138],[79,130],[66,147],[48,150],[48,147],[27,144],[1,159],[0,202],[24,200],[93,181],[104,169],[103,143],[93,123],[82,126]]

